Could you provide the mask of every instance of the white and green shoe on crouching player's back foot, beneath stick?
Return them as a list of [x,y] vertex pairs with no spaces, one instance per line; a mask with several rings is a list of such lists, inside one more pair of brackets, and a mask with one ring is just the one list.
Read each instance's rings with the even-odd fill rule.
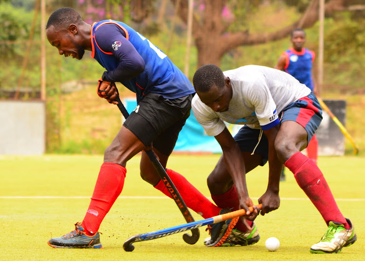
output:
[[[260,240],[256,223],[252,224],[252,231],[241,232],[233,229],[228,238],[220,246],[252,245]],[[204,244],[210,241],[210,237],[204,240]]]

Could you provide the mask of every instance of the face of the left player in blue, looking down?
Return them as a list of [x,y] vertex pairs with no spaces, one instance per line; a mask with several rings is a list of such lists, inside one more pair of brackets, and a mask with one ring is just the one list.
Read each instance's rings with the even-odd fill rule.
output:
[[58,49],[61,56],[72,56],[78,60],[84,56],[85,48],[76,42],[74,35],[69,31],[56,32],[54,26],[51,26],[47,29],[46,34],[48,41]]

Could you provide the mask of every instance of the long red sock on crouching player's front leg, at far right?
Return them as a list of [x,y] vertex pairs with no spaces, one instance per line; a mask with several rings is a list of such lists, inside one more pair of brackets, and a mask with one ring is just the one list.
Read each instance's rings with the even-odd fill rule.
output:
[[296,152],[285,162],[285,167],[294,173],[296,182],[327,224],[334,221],[345,224],[346,229],[350,228],[333,198],[325,177],[312,160],[303,153]]

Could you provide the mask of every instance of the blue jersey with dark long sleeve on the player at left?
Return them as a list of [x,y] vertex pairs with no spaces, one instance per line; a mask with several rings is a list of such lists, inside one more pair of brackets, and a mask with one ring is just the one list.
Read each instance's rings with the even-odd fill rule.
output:
[[[159,48],[123,22],[94,23],[91,45],[91,57],[107,70],[103,79],[121,82],[136,93],[137,102],[147,93],[159,93],[166,99],[195,93],[189,79]],[[144,65],[144,70],[133,75],[137,63]]]

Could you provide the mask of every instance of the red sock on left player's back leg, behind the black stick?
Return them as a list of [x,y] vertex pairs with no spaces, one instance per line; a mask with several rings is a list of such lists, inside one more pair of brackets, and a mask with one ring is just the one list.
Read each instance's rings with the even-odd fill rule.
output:
[[[220,208],[208,200],[201,192],[191,185],[185,177],[172,169],[166,169],[172,183],[176,186],[186,206],[200,214],[204,219],[219,215]],[[161,180],[156,186],[166,196],[171,197],[170,192]]]

